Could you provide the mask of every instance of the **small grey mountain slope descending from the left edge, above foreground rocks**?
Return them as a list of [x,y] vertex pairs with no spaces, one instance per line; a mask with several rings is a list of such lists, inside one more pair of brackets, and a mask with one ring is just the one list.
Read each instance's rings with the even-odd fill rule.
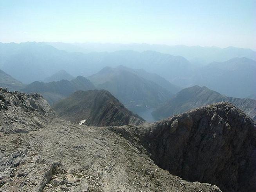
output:
[[10,91],[18,91],[24,86],[22,82],[19,82],[0,69],[0,87],[7,87]]

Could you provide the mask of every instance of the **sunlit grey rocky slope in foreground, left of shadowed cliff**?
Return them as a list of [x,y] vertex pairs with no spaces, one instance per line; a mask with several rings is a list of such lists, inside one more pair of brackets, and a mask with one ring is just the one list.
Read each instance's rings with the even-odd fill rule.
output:
[[58,119],[38,94],[0,89],[0,100],[2,192],[220,192],[160,169],[119,127]]

